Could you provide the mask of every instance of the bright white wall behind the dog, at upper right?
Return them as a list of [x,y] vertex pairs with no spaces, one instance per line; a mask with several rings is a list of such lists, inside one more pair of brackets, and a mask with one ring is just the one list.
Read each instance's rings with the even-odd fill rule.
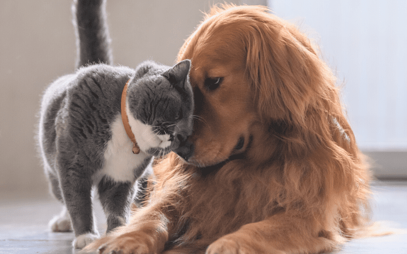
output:
[[343,99],[360,147],[407,151],[407,1],[272,0],[269,5],[316,39],[345,81]]

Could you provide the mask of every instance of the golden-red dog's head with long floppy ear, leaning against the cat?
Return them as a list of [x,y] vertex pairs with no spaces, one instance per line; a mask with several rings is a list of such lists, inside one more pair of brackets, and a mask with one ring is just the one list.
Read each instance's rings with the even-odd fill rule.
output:
[[195,119],[193,149],[181,156],[198,167],[247,155],[256,142],[271,147],[264,142],[287,133],[332,140],[332,119],[347,124],[330,69],[308,38],[266,8],[213,8],[180,49],[183,59],[192,61]]

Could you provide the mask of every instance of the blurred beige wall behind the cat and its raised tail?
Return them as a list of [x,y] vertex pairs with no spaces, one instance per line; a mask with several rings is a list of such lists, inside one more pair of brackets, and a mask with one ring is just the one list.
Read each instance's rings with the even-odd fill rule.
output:
[[[172,65],[210,9],[207,0],[108,0],[114,62]],[[228,1],[242,4],[241,1]],[[40,95],[74,71],[71,1],[0,1],[0,193],[47,193],[35,145]]]

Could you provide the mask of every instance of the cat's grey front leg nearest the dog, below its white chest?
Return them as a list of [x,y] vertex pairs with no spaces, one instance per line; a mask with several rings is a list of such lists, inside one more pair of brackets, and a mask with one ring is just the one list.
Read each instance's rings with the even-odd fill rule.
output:
[[104,176],[98,184],[100,203],[107,217],[106,233],[127,223],[134,196],[134,184],[130,181],[115,182]]

